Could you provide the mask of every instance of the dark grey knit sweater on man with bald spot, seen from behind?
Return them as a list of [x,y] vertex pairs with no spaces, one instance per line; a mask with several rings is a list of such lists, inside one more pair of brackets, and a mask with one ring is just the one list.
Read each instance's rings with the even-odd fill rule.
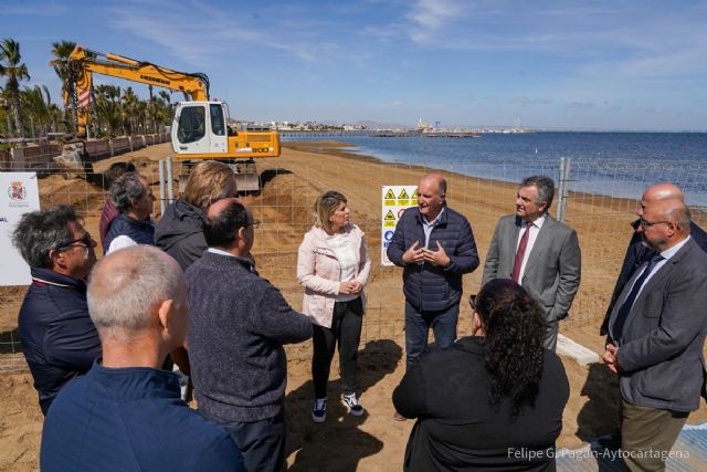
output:
[[205,252],[187,270],[188,349],[199,408],[252,422],[283,410],[283,344],[312,337],[312,323],[245,259]]

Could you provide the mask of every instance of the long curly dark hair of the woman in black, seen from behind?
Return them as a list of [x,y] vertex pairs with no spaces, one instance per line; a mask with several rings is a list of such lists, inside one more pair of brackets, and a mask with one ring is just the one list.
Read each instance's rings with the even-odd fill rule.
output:
[[484,327],[484,364],[490,376],[489,402],[513,401],[514,415],[532,406],[545,357],[546,316],[538,302],[508,279],[488,282],[476,296]]

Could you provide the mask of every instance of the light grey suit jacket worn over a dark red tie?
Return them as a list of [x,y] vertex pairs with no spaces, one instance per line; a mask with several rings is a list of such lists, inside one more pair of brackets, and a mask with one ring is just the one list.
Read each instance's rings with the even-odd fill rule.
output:
[[[482,286],[493,279],[510,279],[523,220],[498,220],[484,264]],[[567,317],[579,290],[581,254],[577,232],[549,214],[535,241],[520,284],[544,306],[548,321]]]

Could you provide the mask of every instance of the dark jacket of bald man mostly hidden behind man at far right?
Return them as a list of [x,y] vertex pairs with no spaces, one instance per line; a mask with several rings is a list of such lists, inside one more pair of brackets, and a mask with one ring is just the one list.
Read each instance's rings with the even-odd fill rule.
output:
[[[619,298],[619,295],[621,295],[621,292],[623,292],[623,287],[626,285],[626,282],[629,282],[636,269],[643,265],[643,263],[650,260],[655,253],[655,251],[643,243],[643,237],[636,231],[640,222],[641,220],[635,220],[631,223],[631,227],[634,230],[633,235],[629,242],[629,248],[626,248],[626,255],[623,258],[621,272],[619,273],[619,279],[616,279],[616,285],[614,285],[614,293],[611,295],[609,307],[606,307],[604,321],[599,328],[599,334],[602,336],[608,334],[609,317],[611,316],[611,312],[613,312],[616,300]],[[689,235],[695,240],[697,245],[703,249],[703,251],[707,252],[707,233],[692,221],[689,222]]]

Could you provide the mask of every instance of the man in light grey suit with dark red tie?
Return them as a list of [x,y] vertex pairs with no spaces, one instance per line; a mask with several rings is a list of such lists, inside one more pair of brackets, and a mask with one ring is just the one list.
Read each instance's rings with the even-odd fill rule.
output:
[[498,220],[482,279],[482,286],[494,279],[511,279],[542,305],[548,349],[557,346],[558,321],[567,317],[581,277],[577,232],[548,214],[553,197],[549,177],[520,182],[516,213]]

